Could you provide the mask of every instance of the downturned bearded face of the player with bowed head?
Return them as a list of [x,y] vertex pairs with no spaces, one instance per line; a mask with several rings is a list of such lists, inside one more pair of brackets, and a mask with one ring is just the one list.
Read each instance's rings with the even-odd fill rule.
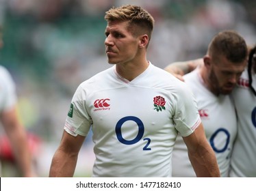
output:
[[216,94],[227,95],[233,88],[246,67],[246,60],[232,63],[225,56],[218,56],[218,61],[211,59],[209,67],[209,82],[212,83]]

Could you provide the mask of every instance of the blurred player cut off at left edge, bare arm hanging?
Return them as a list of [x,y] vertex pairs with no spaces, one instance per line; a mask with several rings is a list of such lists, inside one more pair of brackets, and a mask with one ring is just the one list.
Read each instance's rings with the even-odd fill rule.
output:
[[[3,46],[0,26],[0,48]],[[0,121],[5,135],[8,137],[8,145],[12,148],[15,162],[18,165],[21,175],[24,177],[33,177],[32,159],[27,143],[27,136],[23,124],[18,119],[16,108],[16,91],[12,76],[0,65]],[[2,134],[3,136],[3,134]],[[1,138],[1,143],[3,138]],[[5,147],[7,143],[0,145],[0,157],[5,156]],[[8,150],[10,151],[10,150]],[[10,154],[10,153],[9,153]],[[1,171],[0,171],[1,175]]]

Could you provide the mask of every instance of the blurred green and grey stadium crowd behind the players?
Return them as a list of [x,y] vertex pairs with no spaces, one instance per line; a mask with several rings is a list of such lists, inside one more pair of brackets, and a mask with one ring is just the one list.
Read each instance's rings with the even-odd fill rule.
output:
[[[154,16],[148,59],[160,68],[202,57],[212,36],[222,29],[235,29],[248,44],[256,43],[256,1],[0,0],[0,64],[14,77],[27,131],[42,139],[38,176],[48,176],[75,89],[110,67],[103,44],[105,11],[127,3],[141,5]],[[91,174],[91,136],[86,143],[77,177]],[[6,176],[12,176],[8,169]]]

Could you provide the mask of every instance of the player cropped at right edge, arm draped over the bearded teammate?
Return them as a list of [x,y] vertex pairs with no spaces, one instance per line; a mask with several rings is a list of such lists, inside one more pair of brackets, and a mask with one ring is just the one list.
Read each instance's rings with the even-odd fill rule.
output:
[[[231,153],[230,177],[256,177],[256,150],[254,149],[256,143],[255,50],[256,46],[251,48],[247,68],[231,93],[238,114],[238,134]],[[202,59],[196,59],[168,65],[168,72],[182,80],[184,73],[194,70],[196,65],[201,65],[202,62]]]

